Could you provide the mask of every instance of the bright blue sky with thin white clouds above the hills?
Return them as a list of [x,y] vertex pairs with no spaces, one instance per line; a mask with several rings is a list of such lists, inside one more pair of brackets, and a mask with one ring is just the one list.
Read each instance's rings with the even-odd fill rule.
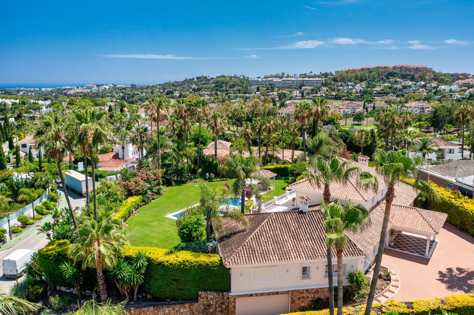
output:
[[473,7],[472,0],[4,1],[0,85],[153,84],[397,63],[473,73]]

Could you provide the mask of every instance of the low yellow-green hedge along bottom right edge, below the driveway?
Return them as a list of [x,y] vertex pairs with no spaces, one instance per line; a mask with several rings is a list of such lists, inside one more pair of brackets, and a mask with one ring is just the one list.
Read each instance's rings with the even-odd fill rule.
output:
[[[450,295],[447,297],[430,297],[419,300],[411,300],[408,302],[398,302],[390,300],[383,303],[374,303],[370,314],[382,315],[390,311],[399,315],[438,315],[441,309],[447,312],[456,313],[457,315],[474,314],[474,297],[470,295]],[[349,306],[343,308],[345,315],[363,315],[365,305]],[[335,311],[336,313],[336,311]],[[295,312],[284,315],[328,315],[329,310],[320,311]]]

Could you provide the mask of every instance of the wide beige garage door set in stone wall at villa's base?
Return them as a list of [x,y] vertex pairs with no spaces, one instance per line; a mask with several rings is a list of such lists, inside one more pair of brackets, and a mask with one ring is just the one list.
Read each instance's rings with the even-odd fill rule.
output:
[[236,315],[279,315],[289,312],[289,294],[239,297],[236,299]]

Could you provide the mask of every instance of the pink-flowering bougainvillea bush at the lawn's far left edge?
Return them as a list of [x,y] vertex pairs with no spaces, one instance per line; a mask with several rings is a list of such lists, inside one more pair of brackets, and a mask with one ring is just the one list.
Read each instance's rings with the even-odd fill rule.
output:
[[155,166],[150,168],[142,168],[137,171],[135,177],[131,177],[129,181],[118,181],[120,185],[128,195],[141,195],[146,193],[147,190],[155,190],[155,187],[161,185],[161,173]]

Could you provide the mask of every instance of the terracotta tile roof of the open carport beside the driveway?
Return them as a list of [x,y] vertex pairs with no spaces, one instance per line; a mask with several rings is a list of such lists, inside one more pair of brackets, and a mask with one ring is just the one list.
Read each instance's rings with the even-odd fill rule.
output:
[[[371,210],[375,208],[380,208],[381,211],[385,211],[385,202],[374,205]],[[390,208],[390,222],[392,225],[430,234],[438,234],[446,218],[446,213],[414,207],[392,204]]]

